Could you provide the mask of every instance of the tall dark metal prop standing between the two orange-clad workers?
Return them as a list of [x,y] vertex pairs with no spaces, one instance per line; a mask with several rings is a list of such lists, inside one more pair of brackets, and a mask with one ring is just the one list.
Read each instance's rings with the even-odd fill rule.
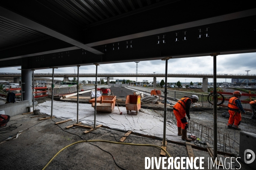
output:
[[217,76],[216,55],[213,56],[213,158],[217,158]]

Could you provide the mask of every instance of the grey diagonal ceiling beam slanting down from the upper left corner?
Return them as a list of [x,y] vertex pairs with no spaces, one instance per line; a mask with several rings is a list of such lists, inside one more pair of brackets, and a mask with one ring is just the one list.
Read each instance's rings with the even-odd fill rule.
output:
[[[26,9],[26,10],[29,10],[29,9]],[[24,11],[26,11],[26,10],[24,10]],[[34,9],[34,11],[35,11],[35,9]],[[32,13],[32,14],[34,14],[34,13]],[[37,20],[37,22],[35,22],[34,20],[29,19],[28,17],[24,17],[21,14],[12,12],[9,9],[3,8],[2,6],[0,6],[0,16],[8,18],[9,20],[12,20],[12,21],[14,21],[16,23],[19,23],[21,25],[24,25],[26,27],[29,27],[30,29],[37,30],[39,32],[42,32],[46,35],[50,35],[52,37],[56,37],[59,40],[65,41],[67,43],[72,44],[73,46],[77,46],[77,47],[79,47],[81,49],[85,49],[89,52],[93,52],[94,54],[97,54],[97,55],[102,55],[103,54],[103,52],[100,52],[96,49],[93,49],[91,47],[86,46],[81,41],[72,38],[72,36],[68,36],[68,35],[63,34],[61,31],[68,28],[68,23],[67,23],[67,26],[63,26],[63,28],[59,28],[61,30],[56,31],[56,29],[51,28],[51,25],[44,26],[41,23],[39,23],[38,20]],[[59,22],[58,20],[55,20],[55,21]],[[50,23],[48,23],[48,24],[50,24]],[[77,30],[77,29],[78,28],[73,27],[73,29],[70,28],[68,30],[68,32],[72,32],[72,34],[76,34],[76,33],[73,33],[73,32],[77,31],[79,35],[76,35],[76,36],[78,36],[79,39],[80,39],[82,37],[81,35],[83,35],[82,30]]]

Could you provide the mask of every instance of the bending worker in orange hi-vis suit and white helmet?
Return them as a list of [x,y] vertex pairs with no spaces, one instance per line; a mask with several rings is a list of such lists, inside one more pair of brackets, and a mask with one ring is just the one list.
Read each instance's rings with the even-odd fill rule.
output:
[[197,95],[192,95],[191,97],[181,98],[177,104],[174,105],[174,115],[177,119],[177,127],[178,127],[178,135],[181,136],[183,140],[192,141],[187,137],[187,129],[188,129],[188,121],[186,119],[186,115],[188,116],[188,120],[190,119],[189,109],[191,103],[195,103],[198,101]]

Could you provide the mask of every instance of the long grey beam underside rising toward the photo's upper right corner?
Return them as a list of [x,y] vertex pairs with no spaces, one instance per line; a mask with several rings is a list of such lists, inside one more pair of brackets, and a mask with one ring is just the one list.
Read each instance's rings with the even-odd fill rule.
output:
[[171,31],[176,31],[176,30],[180,30],[180,29],[187,29],[187,28],[192,28],[192,27],[196,27],[196,26],[203,26],[203,25],[212,24],[212,23],[219,23],[219,22],[224,22],[227,20],[234,20],[234,19],[253,16],[253,15],[256,15],[256,9],[249,9],[249,10],[245,10],[245,11],[241,11],[241,12],[235,12],[235,13],[231,13],[231,14],[221,15],[218,17],[211,17],[211,18],[207,18],[207,19],[203,19],[203,20],[197,20],[197,21],[193,21],[193,22],[178,24],[175,26],[168,26],[168,27],[161,28],[161,29],[150,30],[147,32],[140,32],[140,33],[136,33],[136,34],[132,34],[132,35],[126,35],[126,36],[112,38],[112,39],[108,39],[108,40],[97,41],[94,43],[87,43],[86,45],[87,46],[98,46],[98,45],[103,45],[103,44],[108,44],[108,43],[115,43],[115,42],[119,42],[119,41],[123,41],[123,40],[130,40],[130,39],[134,39],[134,38],[138,38],[138,37],[157,35],[157,34],[162,34],[165,32],[171,32]]

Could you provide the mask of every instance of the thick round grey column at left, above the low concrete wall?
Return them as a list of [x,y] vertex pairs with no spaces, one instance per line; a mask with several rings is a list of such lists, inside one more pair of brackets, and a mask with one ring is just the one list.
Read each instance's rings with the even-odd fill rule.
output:
[[[22,68],[22,66],[21,66]],[[21,70],[23,100],[32,101],[32,70]]]

